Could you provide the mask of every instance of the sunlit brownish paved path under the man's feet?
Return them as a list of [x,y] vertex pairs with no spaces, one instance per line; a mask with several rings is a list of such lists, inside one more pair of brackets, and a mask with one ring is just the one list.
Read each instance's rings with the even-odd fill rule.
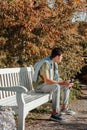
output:
[[[82,97],[70,104],[76,115],[64,115],[66,124],[51,121],[50,114],[30,115],[26,119],[26,130],[87,130],[87,86],[82,89]],[[34,117],[31,119],[31,117]]]

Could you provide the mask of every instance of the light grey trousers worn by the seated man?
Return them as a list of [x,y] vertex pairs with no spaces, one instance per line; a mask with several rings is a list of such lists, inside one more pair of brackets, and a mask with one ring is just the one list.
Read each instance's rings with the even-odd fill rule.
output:
[[36,92],[52,93],[52,109],[60,110],[60,90],[63,92],[63,105],[68,105],[69,102],[69,87],[60,86],[58,84],[42,84],[36,89]]

